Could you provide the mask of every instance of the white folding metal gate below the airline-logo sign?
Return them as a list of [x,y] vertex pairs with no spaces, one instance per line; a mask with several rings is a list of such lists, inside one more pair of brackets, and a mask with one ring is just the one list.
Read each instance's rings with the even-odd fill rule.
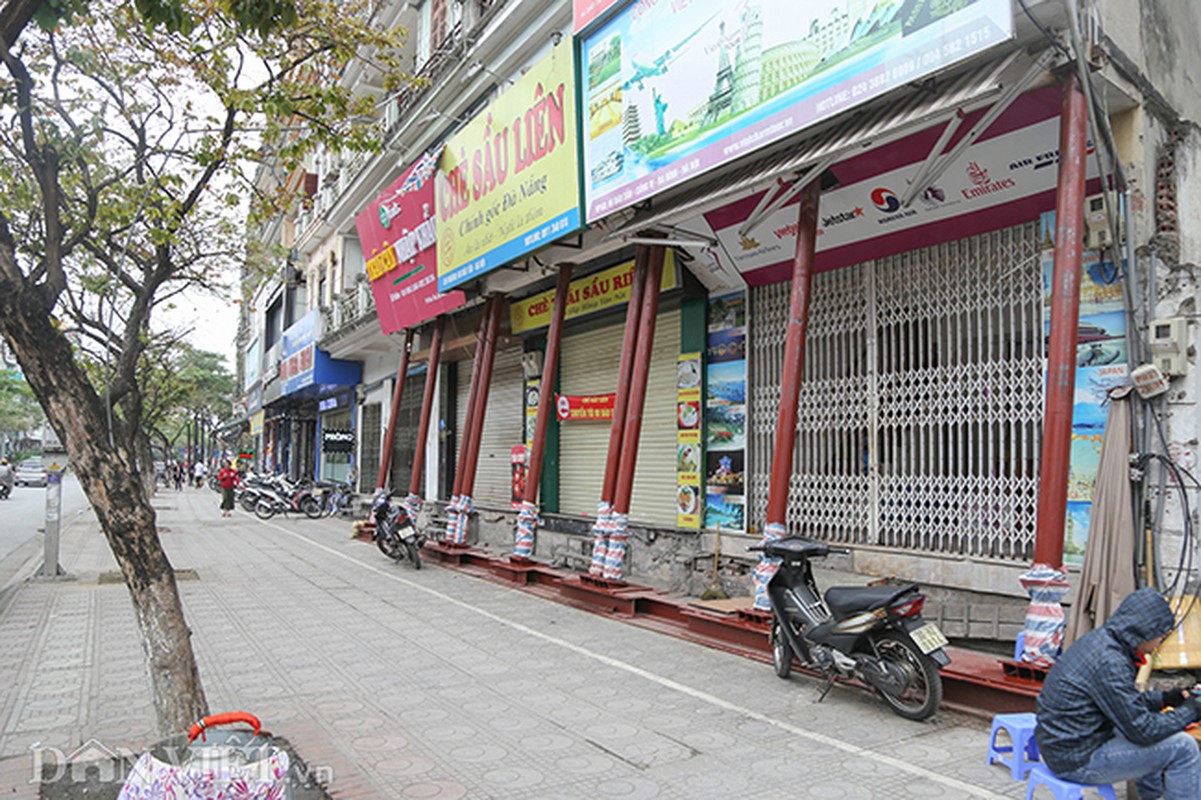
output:
[[[1042,413],[1038,226],[814,277],[787,519],[892,550],[1027,560]],[[767,505],[789,283],[751,289],[751,524]]]

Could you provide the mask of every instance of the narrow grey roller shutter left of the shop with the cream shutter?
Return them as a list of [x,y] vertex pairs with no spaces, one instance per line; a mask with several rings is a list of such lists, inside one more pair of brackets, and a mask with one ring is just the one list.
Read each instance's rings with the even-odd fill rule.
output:
[[[466,428],[471,364],[470,358],[456,364],[459,390],[455,402],[455,430],[460,446]],[[509,449],[524,441],[522,384],[521,347],[497,351],[496,360],[492,363],[492,386],[488,392],[488,407],[484,414],[484,438],[479,446],[479,464],[476,467],[472,498],[477,506],[509,507],[513,484]],[[455,459],[458,458],[459,454],[455,453]]]

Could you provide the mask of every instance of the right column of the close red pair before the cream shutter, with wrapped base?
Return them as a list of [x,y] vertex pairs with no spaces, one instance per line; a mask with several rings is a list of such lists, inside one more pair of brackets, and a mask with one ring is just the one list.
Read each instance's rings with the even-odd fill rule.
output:
[[629,376],[629,405],[621,435],[621,468],[613,495],[614,526],[605,553],[604,577],[622,580],[626,569],[626,543],[629,541],[629,500],[634,494],[634,467],[638,464],[638,442],[643,434],[643,407],[646,404],[646,383],[651,372],[655,347],[655,323],[659,312],[659,282],[663,276],[663,246],[647,247],[646,282],[643,286],[641,321],[638,326],[638,348],[634,369]]

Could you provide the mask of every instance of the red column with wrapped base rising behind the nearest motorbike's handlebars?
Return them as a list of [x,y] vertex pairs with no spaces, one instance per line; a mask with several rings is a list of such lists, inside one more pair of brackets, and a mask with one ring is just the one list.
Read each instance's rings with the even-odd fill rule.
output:
[[[767,486],[767,518],[764,542],[788,532],[788,491],[793,482],[793,450],[796,447],[796,404],[801,396],[805,364],[805,334],[809,327],[809,299],[813,288],[813,253],[818,240],[818,205],[821,181],[811,180],[801,190],[796,219],[796,255],[793,257],[793,292],[788,306],[784,338],[784,365],[779,378],[779,412],[776,417],[776,443],[771,458],[771,483]],[[778,559],[759,559],[754,578],[754,607],[771,609],[767,581],[779,568]]]

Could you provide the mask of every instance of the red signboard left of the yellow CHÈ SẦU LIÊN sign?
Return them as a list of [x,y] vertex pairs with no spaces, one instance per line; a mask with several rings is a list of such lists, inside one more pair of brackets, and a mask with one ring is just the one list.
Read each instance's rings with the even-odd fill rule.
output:
[[464,304],[462,292],[438,292],[434,166],[426,153],[357,217],[380,329],[390,334]]

